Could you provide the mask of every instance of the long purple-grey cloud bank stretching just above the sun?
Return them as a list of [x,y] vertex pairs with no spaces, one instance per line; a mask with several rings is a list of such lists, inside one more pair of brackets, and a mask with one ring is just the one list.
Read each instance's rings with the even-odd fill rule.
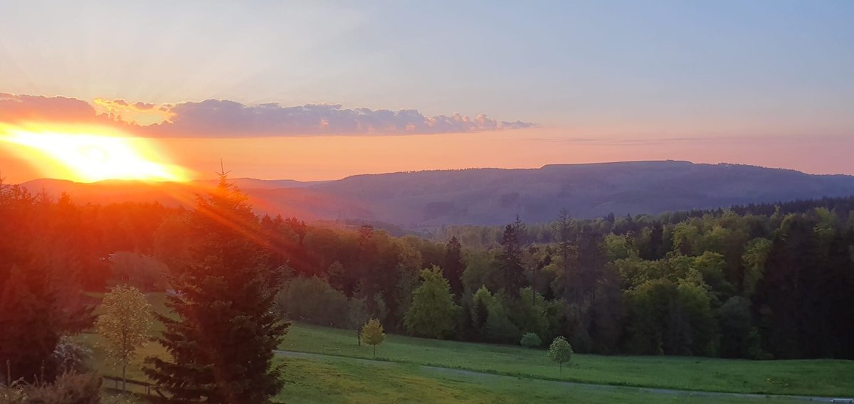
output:
[[94,105],[74,98],[0,93],[0,121],[100,122],[148,137],[237,138],[330,135],[407,135],[488,132],[535,126],[499,121],[485,114],[427,116],[416,109],[343,108],[340,104],[283,107],[206,100],[156,105],[98,98]]

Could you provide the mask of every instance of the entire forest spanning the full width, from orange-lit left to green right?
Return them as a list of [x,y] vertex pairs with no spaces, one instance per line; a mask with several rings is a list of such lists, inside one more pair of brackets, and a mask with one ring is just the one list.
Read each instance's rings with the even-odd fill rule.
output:
[[[592,220],[556,212],[550,223],[395,237],[260,217],[224,189],[228,197],[200,197],[190,209],[77,204],[0,184],[0,358],[16,374],[56,378],[61,369],[45,364],[64,336],[91,327],[91,292],[131,284],[167,291],[171,307],[186,310],[191,280],[216,273],[250,279],[245,290],[210,290],[269,303],[278,333],[287,319],[358,336],[378,319],[415,337],[563,336],[578,353],[854,359],[854,197]],[[200,221],[200,207],[236,212],[244,225]],[[243,244],[231,245],[227,231]],[[212,255],[221,261],[199,259]],[[169,366],[149,374],[167,382]]]

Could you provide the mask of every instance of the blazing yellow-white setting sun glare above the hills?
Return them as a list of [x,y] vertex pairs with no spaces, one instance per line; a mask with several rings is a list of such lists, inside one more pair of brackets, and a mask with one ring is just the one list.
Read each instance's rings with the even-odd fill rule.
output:
[[0,126],[0,141],[43,173],[60,171],[74,181],[188,179],[187,170],[163,161],[151,139],[122,136],[111,128]]

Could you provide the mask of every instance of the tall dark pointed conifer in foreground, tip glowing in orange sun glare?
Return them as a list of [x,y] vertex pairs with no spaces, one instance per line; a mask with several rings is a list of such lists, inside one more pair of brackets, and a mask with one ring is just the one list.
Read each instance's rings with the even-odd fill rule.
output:
[[146,360],[166,402],[266,403],[282,388],[273,349],[289,323],[273,310],[281,271],[268,265],[247,196],[226,180],[190,214],[190,256],[175,268],[160,343],[172,356]]

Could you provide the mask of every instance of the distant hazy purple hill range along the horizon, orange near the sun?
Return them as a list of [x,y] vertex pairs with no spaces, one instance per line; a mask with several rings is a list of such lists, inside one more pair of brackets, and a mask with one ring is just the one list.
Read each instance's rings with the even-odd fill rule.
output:
[[[377,220],[404,227],[497,225],[518,214],[552,220],[561,208],[576,217],[658,214],[692,208],[854,195],[854,176],[687,161],[474,168],[355,175],[335,181],[236,179],[260,213],[308,220]],[[212,181],[77,184],[41,179],[25,184],[79,202],[192,202]]]

